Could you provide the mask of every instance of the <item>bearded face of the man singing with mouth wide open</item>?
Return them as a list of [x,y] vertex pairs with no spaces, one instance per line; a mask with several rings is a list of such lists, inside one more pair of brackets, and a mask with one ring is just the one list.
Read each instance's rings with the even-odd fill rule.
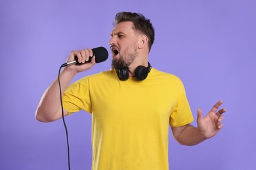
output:
[[133,29],[133,22],[116,24],[110,35],[112,67],[129,67],[137,56],[138,34]]

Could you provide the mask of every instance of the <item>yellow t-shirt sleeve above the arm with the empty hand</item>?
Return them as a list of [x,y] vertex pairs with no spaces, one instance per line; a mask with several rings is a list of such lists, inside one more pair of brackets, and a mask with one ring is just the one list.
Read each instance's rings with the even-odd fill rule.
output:
[[169,124],[171,127],[181,127],[186,124],[193,122],[194,118],[190,110],[188,99],[186,97],[186,92],[184,85],[181,80],[179,81],[179,92],[177,93],[177,103],[171,112]]

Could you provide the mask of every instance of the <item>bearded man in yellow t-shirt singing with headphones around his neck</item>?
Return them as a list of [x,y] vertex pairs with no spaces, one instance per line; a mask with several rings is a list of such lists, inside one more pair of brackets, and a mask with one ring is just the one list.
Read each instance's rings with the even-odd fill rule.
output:
[[[70,65],[60,74],[64,116],[81,109],[93,121],[92,169],[165,170],[168,165],[168,129],[185,145],[201,143],[216,135],[223,124],[222,101],[202,117],[198,127],[177,76],[151,68],[148,54],[154,27],[142,14],[120,12],[111,33],[112,69],[86,76],[68,87],[72,78],[95,65],[91,49],[72,51],[83,65]],[[58,80],[46,90],[36,112],[37,120],[51,122],[62,117]]]

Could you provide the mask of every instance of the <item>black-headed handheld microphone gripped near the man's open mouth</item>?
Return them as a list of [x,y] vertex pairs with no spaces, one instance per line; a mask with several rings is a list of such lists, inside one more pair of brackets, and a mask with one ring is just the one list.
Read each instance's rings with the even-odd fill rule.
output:
[[[108,50],[106,50],[106,48],[104,48],[103,46],[100,46],[100,47],[97,47],[97,48],[93,48],[91,49],[93,51],[93,56],[95,56],[95,62],[96,63],[100,63],[100,62],[103,62],[103,61],[106,61],[106,59],[108,59]],[[91,58],[93,57],[90,57],[88,59],[88,61],[85,61],[85,63],[90,63],[91,62]],[[61,65],[61,67],[66,67],[68,65],[82,65],[84,63],[79,63],[77,61],[77,56],[75,56],[75,60],[73,61],[68,61],[64,64]]]

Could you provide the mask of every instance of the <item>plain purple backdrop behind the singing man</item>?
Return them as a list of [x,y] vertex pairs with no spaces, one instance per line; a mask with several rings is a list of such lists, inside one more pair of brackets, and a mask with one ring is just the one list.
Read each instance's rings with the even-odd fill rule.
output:
[[[37,104],[71,50],[108,48],[122,10],[152,20],[150,63],[182,79],[195,118],[219,99],[227,110],[221,133],[202,144],[181,146],[169,135],[170,169],[256,169],[255,9],[254,0],[2,0],[0,169],[68,169],[62,120],[37,122]],[[75,80],[110,69],[110,60]],[[91,169],[91,115],[66,124],[72,169]]]

